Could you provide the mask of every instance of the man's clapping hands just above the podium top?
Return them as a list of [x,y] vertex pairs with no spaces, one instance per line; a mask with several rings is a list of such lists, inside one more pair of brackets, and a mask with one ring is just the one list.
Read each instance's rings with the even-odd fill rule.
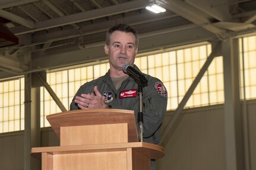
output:
[[108,107],[104,102],[105,97],[100,94],[97,86],[94,86],[93,91],[94,94],[81,94],[81,97],[75,97],[75,102],[78,104],[78,107],[81,109]]

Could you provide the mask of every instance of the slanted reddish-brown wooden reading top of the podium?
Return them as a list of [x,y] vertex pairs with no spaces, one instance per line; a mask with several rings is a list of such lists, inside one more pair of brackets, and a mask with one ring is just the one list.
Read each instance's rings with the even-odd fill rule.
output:
[[138,142],[138,131],[137,125],[135,123],[135,114],[134,111],[131,110],[72,110],[62,113],[50,114],[46,118],[58,137],[60,137],[60,127],[127,123],[129,142]]

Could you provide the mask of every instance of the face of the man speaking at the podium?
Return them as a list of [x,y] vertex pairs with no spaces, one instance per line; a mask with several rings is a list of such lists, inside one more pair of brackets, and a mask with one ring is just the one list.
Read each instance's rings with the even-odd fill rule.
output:
[[105,45],[110,69],[122,70],[125,63],[133,65],[137,51],[134,34],[123,31],[114,31],[110,36],[109,46]]

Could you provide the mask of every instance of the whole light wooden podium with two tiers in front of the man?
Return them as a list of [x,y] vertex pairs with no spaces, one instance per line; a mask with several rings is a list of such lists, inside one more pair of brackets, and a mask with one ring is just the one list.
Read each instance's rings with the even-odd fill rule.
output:
[[47,119],[61,146],[31,149],[42,170],[149,170],[150,159],[165,155],[161,146],[138,142],[134,111],[74,110]]

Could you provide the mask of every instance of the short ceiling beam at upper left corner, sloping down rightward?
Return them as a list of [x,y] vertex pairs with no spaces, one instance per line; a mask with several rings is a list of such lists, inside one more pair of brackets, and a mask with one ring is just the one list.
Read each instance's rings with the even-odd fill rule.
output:
[[28,27],[31,29],[36,28],[33,22],[26,20],[18,15],[14,15],[11,12],[4,11],[3,9],[0,9],[0,17],[13,21],[14,23],[24,25],[25,27]]

